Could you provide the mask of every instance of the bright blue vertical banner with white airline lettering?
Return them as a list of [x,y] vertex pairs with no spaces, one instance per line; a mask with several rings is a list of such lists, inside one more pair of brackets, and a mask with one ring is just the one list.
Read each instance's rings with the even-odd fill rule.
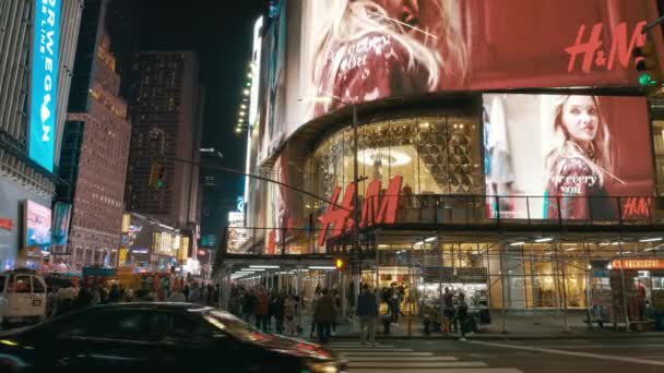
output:
[[35,0],[28,154],[54,170],[61,0]]

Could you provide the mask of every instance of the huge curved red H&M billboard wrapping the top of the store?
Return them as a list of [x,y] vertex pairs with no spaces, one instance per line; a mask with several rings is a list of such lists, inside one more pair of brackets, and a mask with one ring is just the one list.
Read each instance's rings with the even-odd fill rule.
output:
[[[454,89],[636,85],[631,50],[657,16],[654,0],[286,1],[263,43],[259,160],[307,121],[348,104]],[[661,34],[654,37],[661,49]]]

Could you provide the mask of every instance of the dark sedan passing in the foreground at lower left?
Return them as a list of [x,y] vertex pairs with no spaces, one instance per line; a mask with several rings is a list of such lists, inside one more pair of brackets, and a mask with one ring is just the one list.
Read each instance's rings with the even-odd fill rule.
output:
[[345,372],[319,345],[189,303],[93,306],[0,334],[0,372]]

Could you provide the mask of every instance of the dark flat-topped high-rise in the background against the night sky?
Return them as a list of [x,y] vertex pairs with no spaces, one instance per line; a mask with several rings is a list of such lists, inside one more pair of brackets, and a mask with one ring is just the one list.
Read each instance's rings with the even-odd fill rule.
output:
[[[130,69],[131,133],[127,208],[183,228],[198,225],[199,167],[204,91],[192,51],[142,51]],[[153,161],[164,185],[153,189]]]

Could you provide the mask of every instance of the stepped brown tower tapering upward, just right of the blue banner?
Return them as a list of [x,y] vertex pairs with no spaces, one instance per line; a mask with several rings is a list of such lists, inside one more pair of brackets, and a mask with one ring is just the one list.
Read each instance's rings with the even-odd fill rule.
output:
[[108,0],[85,4],[67,116],[58,198],[72,204],[68,245],[75,268],[115,265],[122,226],[131,123],[105,20]]

